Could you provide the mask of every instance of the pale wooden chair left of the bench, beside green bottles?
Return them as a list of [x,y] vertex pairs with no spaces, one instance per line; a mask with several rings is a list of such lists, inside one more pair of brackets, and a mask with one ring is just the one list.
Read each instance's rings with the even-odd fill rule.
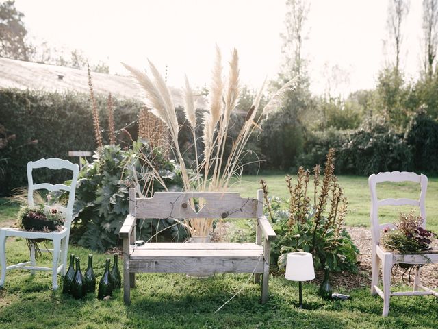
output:
[[[37,168],[49,168],[49,169],[68,169],[73,171],[73,179],[70,186],[65,184],[34,184],[32,177],[32,170]],[[29,162],[27,164],[27,181],[29,184],[27,200],[29,206],[34,206],[34,191],[35,190],[48,190],[48,191],[67,191],[68,203],[66,208],[59,207],[61,213],[65,214],[66,219],[64,227],[61,231],[53,232],[29,232],[25,230],[18,230],[16,228],[0,228],[0,266],[1,266],[1,278],[0,287],[5,282],[6,271],[10,269],[28,269],[31,273],[38,271],[52,271],[52,286],[53,290],[57,289],[57,273],[62,273],[64,276],[66,272],[67,252],[68,252],[68,238],[70,236],[70,225],[73,216],[73,204],[75,202],[75,189],[77,183],[77,176],[79,174],[79,166],[73,164],[68,160],[61,160],[56,158],[40,159],[36,162]],[[25,263],[18,263],[15,265],[6,266],[6,239],[8,236],[20,236],[24,239],[49,239],[53,241],[53,249],[42,249],[42,252],[53,252],[53,265],[52,267],[38,267],[35,260],[35,248],[31,246],[30,261]],[[58,266],[58,263],[61,263]]]

